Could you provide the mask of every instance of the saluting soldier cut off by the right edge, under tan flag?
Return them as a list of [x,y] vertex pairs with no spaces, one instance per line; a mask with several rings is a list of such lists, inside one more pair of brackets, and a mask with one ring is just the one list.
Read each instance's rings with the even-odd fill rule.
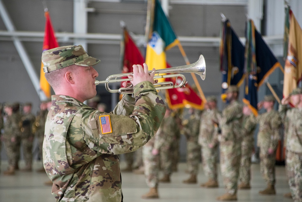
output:
[[[294,105],[290,108],[288,104]],[[296,88],[281,100],[279,112],[288,120],[286,135],[286,174],[294,202],[302,201],[302,89]]]

